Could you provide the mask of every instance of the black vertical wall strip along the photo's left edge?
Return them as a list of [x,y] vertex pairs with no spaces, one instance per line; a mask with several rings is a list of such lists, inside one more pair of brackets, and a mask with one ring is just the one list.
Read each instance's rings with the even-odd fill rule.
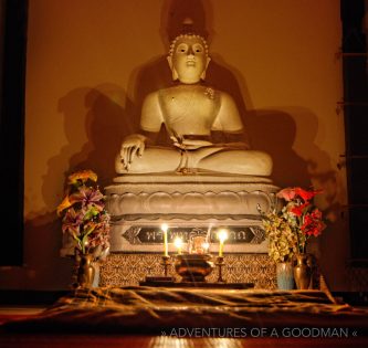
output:
[[[0,149],[2,186],[1,244],[11,253],[0,253],[0,265],[23,262],[23,157],[24,83],[27,49],[27,0],[3,0]],[[4,224],[7,228],[4,228]]]

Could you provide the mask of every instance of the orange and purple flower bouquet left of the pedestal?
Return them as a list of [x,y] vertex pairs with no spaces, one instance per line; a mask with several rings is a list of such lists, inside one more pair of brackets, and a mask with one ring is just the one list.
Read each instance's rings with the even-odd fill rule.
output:
[[109,214],[96,182],[97,176],[92,170],[69,176],[65,198],[56,211],[62,217],[63,233],[73,238],[78,254],[97,254],[109,249]]

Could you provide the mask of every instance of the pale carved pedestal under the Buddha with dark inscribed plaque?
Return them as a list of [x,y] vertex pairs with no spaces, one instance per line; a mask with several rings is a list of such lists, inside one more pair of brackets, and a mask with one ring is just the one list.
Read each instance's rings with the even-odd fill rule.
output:
[[[162,252],[160,225],[174,240],[209,233],[210,252],[218,252],[215,231],[227,228],[225,252],[266,253],[262,211],[275,202],[270,179],[229,175],[126,175],[105,188],[112,215],[112,252]],[[186,246],[185,246],[186,247]]]

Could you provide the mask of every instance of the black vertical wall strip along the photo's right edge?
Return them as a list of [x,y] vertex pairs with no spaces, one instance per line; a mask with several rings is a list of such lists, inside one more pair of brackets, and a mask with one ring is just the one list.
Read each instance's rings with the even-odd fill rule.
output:
[[341,0],[350,259],[368,257],[368,66],[364,0]]

